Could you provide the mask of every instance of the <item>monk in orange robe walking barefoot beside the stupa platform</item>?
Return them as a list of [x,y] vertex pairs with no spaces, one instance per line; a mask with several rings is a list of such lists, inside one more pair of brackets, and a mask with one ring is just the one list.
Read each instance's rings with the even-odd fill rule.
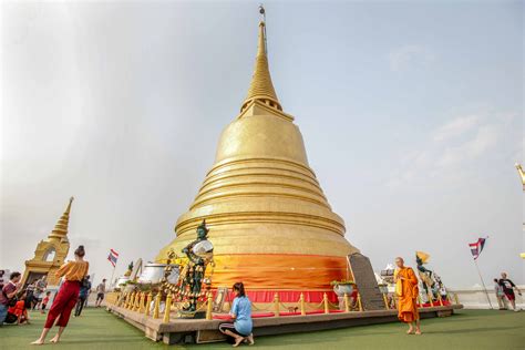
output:
[[[406,334],[421,334],[420,313],[418,312],[416,299],[419,295],[418,277],[414,270],[404,266],[403,258],[395,258],[398,268],[394,272],[395,294],[399,297],[398,318],[409,323]],[[415,326],[415,331],[414,331]]]

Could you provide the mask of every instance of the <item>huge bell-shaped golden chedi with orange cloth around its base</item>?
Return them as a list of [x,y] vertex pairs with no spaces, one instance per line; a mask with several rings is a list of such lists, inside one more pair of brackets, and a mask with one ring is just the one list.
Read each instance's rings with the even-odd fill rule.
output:
[[215,247],[213,288],[243,281],[253,300],[255,292],[274,298],[274,291],[303,291],[307,300],[318,299],[330,281],[349,277],[347,256],[358,251],[344,239],[344,222],[331,210],[308,165],[294,117],[282,112],[268,69],[264,22],[240,114],[223,131],[215,164],[157,261],[195,239],[203,218]]

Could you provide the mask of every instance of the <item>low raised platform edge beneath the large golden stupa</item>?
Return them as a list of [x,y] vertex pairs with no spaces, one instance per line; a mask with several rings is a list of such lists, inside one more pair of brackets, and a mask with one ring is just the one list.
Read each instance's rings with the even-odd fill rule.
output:
[[[446,317],[451,316],[455,309],[462,308],[462,305],[420,308],[420,316],[421,318]],[[136,328],[142,329],[147,338],[154,341],[162,340],[166,344],[206,343],[225,339],[218,331],[218,325],[224,322],[224,320],[208,321],[172,318],[168,323],[165,323],[162,319],[146,317],[143,313],[115,305],[109,305],[107,310]],[[377,310],[254,318],[254,336],[310,332],[353,326],[398,322],[397,315],[397,310]]]

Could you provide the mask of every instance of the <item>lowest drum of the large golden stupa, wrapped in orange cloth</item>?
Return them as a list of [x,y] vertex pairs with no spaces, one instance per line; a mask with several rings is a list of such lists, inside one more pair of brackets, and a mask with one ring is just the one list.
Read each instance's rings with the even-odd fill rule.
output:
[[[271,303],[276,296],[282,303],[296,303],[301,294],[307,303],[321,302],[325,294],[334,303],[338,299],[330,282],[353,279],[344,254],[358,250],[342,236],[312,234],[303,229],[301,238],[296,238],[299,236],[298,227],[244,226],[235,230],[233,225],[225,225],[227,231],[215,223],[212,226],[208,239],[215,246],[215,267],[208,267],[207,276],[212,279],[214,292],[229,291],[235,282],[241,281],[256,305]],[[279,233],[282,227],[288,229],[288,234]],[[258,234],[243,234],[246,231]],[[278,238],[278,235],[285,238]],[[326,240],[320,237],[326,237]],[[176,239],[169,247],[181,251],[181,246],[186,244],[185,239]],[[329,251],[342,256],[329,255]]]

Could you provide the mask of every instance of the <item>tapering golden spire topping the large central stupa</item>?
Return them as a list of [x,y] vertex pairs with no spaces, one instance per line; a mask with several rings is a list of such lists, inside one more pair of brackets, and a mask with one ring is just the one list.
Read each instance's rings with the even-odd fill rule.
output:
[[277,99],[274,84],[271,83],[270,70],[268,68],[268,55],[266,49],[266,27],[265,21],[259,23],[259,43],[257,48],[257,58],[255,59],[254,74],[251,75],[251,83],[248,89],[248,95],[240,111],[255,100],[258,100],[274,109],[282,111],[282,107]]

